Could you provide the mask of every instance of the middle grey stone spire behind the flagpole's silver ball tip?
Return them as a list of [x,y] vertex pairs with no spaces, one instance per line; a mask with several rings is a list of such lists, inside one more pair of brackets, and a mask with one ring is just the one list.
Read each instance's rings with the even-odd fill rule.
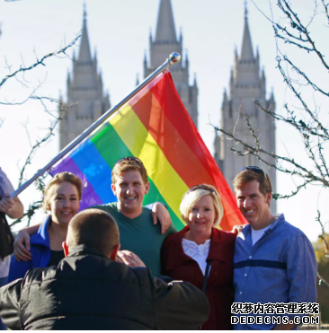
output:
[[[149,44],[149,63],[147,62],[147,54],[144,58],[145,78],[153,73],[158,66],[161,66],[171,53],[178,52],[182,56],[182,32],[180,38],[177,39],[171,0],[160,0],[156,38],[153,39],[152,33],[150,33]],[[186,110],[189,112],[194,125],[198,127],[198,86],[195,76],[193,84],[190,85],[189,83],[189,58],[187,54],[185,61],[172,66],[170,72]]]

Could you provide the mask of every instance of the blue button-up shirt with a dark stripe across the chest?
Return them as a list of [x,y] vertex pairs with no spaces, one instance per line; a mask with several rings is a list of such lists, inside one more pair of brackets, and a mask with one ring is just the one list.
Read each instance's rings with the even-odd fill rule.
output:
[[[286,222],[284,215],[280,215],[254,245],[251,226],[247,225],[237,235],[234,258],[235,302],[244,303],[243,307],[246,303],[316,302],[315,252],[307,236]],[[285,315],[291,318],[292,313],[296,312]],[[234,315],[255,316],[253,311]],[[264,315],[278,314],[257,311],[256,316]],[[240,330],[273,327],[271,323],[234,325],[234,329]]]

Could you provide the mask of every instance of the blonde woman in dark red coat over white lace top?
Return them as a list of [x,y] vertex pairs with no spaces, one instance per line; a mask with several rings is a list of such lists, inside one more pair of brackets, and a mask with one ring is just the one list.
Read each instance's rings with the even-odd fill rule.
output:
[[163,274],[206,293],[211,309],[202,329],[232,329],[236,235],[215,228],[223,217],[218,191],[209,185],[193,186],[182,198],[180,211],[187,225],[164,241]]

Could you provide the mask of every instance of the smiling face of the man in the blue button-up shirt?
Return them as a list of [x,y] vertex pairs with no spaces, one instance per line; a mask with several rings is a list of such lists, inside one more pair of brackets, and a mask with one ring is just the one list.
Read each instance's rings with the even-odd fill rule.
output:
[[271,192],[260,191],[257,180],[248,181],[236,188],[237,206],[254,230],[265,228],[274,222],[270,211]]

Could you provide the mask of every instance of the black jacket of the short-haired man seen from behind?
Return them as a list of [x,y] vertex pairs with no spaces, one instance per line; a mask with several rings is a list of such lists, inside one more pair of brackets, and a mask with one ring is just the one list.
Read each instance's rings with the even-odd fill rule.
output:
[[80,245],[58,267],[36,268],[0,289],[9,329],[197,329],[207,297]]

